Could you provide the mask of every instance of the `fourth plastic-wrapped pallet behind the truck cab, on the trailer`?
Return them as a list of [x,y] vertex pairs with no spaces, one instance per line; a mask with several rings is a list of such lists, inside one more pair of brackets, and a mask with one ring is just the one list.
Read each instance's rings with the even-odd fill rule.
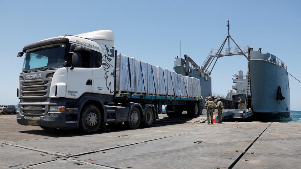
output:
[[167,95],[167,69],[156,66],[157,71],[157,93],[159,95]]

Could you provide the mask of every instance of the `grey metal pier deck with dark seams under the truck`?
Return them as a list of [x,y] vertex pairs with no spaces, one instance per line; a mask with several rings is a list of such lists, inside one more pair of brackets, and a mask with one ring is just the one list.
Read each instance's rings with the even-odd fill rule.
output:
[[84,135],[0,121],[0,168],[299,168],[301,158],[301,123],[157,122]]

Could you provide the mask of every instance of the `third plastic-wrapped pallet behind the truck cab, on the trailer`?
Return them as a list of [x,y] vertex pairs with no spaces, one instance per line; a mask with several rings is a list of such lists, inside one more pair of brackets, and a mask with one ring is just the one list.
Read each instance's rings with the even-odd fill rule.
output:
[[147,92],[150,95],[156,95],[157,93],[157,69],[149,63],[147,65]]

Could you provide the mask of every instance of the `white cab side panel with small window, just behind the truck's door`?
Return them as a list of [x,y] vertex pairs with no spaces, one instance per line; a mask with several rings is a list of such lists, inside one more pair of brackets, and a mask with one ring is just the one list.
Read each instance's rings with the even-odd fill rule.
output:
[[92,59],[92,93],[106,94],[104,52],[91,51]]

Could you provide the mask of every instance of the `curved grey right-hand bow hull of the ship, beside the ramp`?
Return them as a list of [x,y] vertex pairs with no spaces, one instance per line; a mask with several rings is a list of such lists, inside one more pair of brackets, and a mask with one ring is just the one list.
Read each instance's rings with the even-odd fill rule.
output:
[[[287,71],[265,59],[250,59],[252,110],[256,120],[277,121],[290,117]],[[279,99],[279,86],[285,98]]]

